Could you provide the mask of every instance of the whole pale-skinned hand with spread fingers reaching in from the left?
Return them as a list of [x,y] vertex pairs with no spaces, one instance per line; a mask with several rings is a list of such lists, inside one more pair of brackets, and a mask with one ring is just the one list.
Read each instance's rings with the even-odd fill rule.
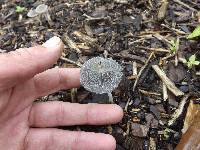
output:
[[53,38],[43,46],[0,54],[0,149],[114,150],[111,135],[67,131],[58,126],[103,125],[119,122],[122,109],[114,104],[35,102],[35,99],[80,86],[80,70],[53,68],[63,43]]

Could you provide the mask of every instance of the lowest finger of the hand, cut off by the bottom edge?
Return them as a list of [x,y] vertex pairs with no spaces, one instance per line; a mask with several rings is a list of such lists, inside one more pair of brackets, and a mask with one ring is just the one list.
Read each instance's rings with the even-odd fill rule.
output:
[[30,129],[25,139],[27,150],[115,150],[111,135],[60,129]]

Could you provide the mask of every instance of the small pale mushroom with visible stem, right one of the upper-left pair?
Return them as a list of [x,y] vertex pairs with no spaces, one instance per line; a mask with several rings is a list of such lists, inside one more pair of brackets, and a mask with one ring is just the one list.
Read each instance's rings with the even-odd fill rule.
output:
[[35,12],[40,16],[40,18],[44,15],[45,19],[47,20],[47,22],[49,23],[50,26],[53,24],[47,5],[45,5],[45,4],[38,5],[35,9]]

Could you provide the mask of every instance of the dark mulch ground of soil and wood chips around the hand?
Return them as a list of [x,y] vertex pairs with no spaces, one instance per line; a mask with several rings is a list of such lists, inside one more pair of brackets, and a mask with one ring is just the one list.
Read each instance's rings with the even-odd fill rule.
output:
[[[191,69],[180,58],[195,54],[200,60],[200,39],[187,35],[200,24],[199,0],[4,0],[0,1],[0,53],[42,44],[56,35],[65,50],[55,66],[79,67],[95,56],[111,57],[124,67],[124,77],[113,91],[114,103],[124,109],[123,120],[109,126],[77,126],[64,129],[112,134],[117,150],[175,149],[190,100],[199,103],[200,66]],[[44,15],[29,18],[39,4],[49,6]],[[25,7],[16,12],[16,6]],[[179,39],[177,51],[170,41]],[[158,65],[184,95],[163,94],[163,80],[152,65]],[[137,70],[136,70],[137,68]],[[181,113],[174,112],[186,99]],[[107,94],[79,89],[63,90],[42,101],[108,103]],[[173,123],[169,123],[172,121]],[[63,128],[63,127],[62,127]]]

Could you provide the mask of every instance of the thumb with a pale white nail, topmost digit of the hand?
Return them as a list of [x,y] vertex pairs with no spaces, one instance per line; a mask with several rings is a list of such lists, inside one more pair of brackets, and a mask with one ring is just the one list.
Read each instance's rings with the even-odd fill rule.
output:
[[60,38],[54,36],[42,46],[21,48],[0,55],[0,90],[23,82],[51,67],[63,50]]

